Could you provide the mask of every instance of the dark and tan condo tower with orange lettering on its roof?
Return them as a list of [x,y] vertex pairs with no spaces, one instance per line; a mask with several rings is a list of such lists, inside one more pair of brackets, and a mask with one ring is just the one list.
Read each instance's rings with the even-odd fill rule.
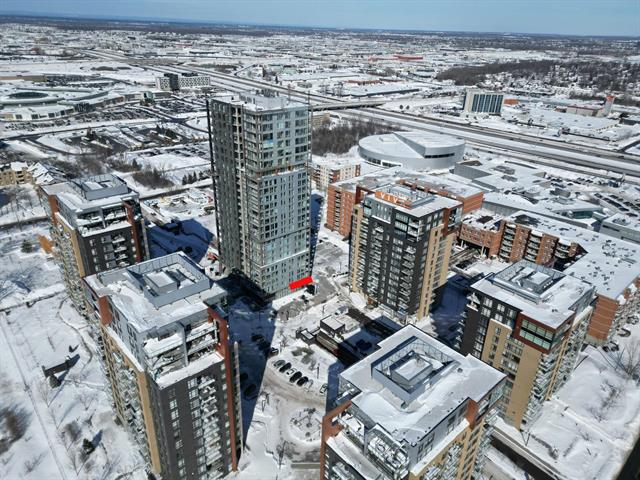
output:
[[446,282],[461,217],[459,201],[406,185],[364,196],[351,228],[352,291],[402,322],[425,317]]

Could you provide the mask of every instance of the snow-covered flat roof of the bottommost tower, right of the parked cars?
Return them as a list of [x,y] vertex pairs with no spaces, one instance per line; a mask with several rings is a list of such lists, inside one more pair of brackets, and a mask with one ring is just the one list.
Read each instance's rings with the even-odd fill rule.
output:
[[408,325],[340,374],[352,404],[398,441],[416,443],[467,399],[480,401],[504,374]]

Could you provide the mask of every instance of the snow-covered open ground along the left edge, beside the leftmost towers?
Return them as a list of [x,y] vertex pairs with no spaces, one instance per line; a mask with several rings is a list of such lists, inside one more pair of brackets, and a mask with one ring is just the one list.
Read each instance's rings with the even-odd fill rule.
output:
[[[24,254],[42,227],[0,237],[0,408],[16,412],[23,433],[0,453],[0,478],[146,478],[144,462],[114,422],[108,386],[86,322],[64,293],[57,267],[41,250]],[[76,363],[52,388],[42,368]],[[6,432],[0,422],[0,437]],[[84,439],[94,443],[81,453]]]

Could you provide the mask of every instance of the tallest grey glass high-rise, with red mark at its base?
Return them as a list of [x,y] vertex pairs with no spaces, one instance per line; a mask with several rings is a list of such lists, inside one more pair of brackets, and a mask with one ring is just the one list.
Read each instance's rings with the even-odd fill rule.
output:
[[310,274],[309,107],[283,97],[211,100],[220,260],[263,294]]

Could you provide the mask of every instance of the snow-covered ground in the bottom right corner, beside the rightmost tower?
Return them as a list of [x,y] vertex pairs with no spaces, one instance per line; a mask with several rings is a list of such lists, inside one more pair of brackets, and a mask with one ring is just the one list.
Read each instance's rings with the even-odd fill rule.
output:
[[[615,342],[640,362],[640,324]],[[626,350],[625,350],[626,349]],[[640,387],[617,364],[616,352],[587,347],[569,381],[522,434],[499,428],[552,465],[563,478],[614,479],[638,441]]]

